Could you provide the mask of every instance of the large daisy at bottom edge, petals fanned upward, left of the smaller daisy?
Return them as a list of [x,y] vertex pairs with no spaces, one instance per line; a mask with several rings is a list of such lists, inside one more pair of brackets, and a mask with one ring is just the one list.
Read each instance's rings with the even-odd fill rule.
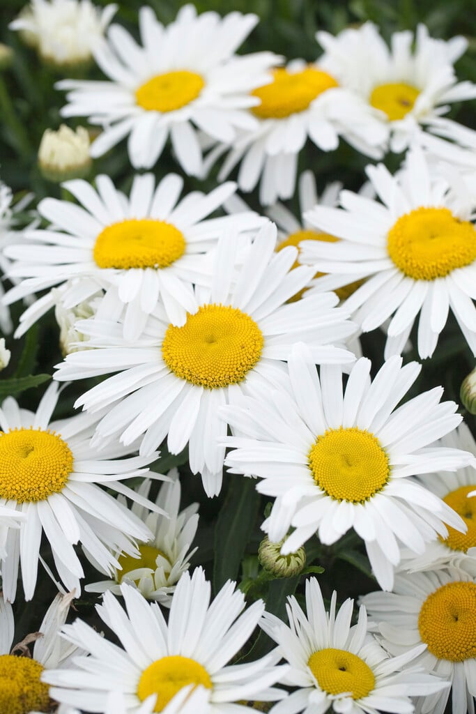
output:
[[[112,593],[96,605],[101,620],[123,648],[104,639],[81,620],[63,628],[64,637],[90,653],[76,658],[74,670],[45,675],[51,695],[85,712],[103,711],[108,694],[122,693],[126,714],[163,712],[183,688],[201,685],[211,714],[236,714],[247,708],[231,703],[255,698],[274,701],[285,692],[273,688],[286,667],[270,653],[248,664],[227,666],[253,633],[264,611],[263,600],[245,610],[245,598],[228,581],[211,603],[211,585],[203,570],[184,573],[173,595],[168,623],[157,603],[148,603],[131,585],[121,585],[124,613]],[[242,613],[242,614],[240,614]],[[148,701],[147,705],[143,702]]]

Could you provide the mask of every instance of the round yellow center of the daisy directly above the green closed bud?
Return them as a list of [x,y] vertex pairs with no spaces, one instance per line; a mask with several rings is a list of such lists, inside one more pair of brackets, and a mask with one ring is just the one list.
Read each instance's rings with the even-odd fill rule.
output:
[[329,429],[309,452],[314,481],[335,501],[364,503],[390,477],[388,456],[373,434],[356,427]]

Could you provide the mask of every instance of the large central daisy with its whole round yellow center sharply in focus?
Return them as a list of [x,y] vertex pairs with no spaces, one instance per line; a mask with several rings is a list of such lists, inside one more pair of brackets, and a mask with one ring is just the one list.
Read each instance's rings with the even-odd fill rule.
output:
[[[243,393],[280,388],[293,343],[308,343],[317,363],[352,362],[339,343],[354,331],[333,293],[285,302],[309,281],[313,268],[291,269],[296,249],[275,253],[276,228],[267,223],[236,261],[236,241],[218,244],[211,288],[196,288],[198,311],[173,326],[158,306],[140,339],[123,338],[120,321],[92,318],[77,327],[88,349],[58,365],[60,381],[118,372],[77,401],[88,411],[106,409],[97,443],[120,436],[129,444],[143,435],[140,453],[166,436],[168,450],[188,443],[190,466],[208,496],[221,489],[225,448],[218,438],[228,423],[218,409]],[[243,261],[241,261],[243,258]],[[237,267],[238,266],[238,267]],[[121,401],[118,401],[122,397]]]

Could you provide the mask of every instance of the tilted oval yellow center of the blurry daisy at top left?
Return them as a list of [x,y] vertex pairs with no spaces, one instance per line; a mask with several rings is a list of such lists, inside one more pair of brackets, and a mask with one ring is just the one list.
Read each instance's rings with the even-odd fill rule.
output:
[[164,72],[136,89],[136,102],[148,111],[175,111],[197,99],[204,86],[203,77],[188,69]]

